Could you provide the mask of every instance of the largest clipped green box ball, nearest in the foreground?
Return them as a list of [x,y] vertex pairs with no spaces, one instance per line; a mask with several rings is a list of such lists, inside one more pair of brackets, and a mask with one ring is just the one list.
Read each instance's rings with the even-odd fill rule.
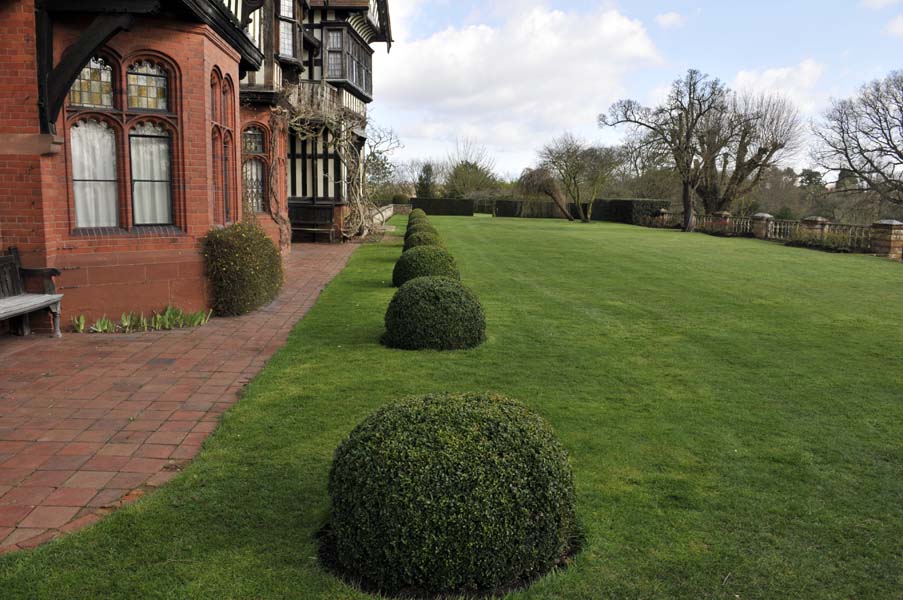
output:
[[490,394],[378,410],[336,450],[329,495],[337,566],[389,594],[523,584],[580,539],[567,452],[542,417]]

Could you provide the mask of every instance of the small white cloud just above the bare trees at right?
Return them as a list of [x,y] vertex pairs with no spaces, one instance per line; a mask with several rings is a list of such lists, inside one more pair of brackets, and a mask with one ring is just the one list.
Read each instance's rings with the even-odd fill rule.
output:
[[824,73],[825,66],[810,58],[789,67],[740,71],[733,87],[781,94],[796,103],[803,114],[814,115],[827,102],[820,89]]

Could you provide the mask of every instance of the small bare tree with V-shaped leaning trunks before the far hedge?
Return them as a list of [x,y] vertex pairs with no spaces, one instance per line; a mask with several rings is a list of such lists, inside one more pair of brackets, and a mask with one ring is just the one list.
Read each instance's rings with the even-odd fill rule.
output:
[[593,200],[621,163],[619,151],[590,146],[564,133],[543,147],[539,157],[541,166],[558,181],[568,202],[575,206],[580,220],[589,223]]

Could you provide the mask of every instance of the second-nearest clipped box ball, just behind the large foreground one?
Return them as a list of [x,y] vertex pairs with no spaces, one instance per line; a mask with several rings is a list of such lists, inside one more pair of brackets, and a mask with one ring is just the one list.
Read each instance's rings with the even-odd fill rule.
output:
[[398,288],[386,310],[383,343],[403,350],[462,350],[486,340],[480,301],[448,277],[418,277]]

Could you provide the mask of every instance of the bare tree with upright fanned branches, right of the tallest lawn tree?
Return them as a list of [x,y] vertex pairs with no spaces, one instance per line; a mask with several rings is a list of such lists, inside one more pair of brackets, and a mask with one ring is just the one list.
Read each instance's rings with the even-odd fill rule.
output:
[[802,139],[799,111],[780,96],[731,94],[723,108],[710,112],[699,132],[696,192],[708,213],[729,210]]

